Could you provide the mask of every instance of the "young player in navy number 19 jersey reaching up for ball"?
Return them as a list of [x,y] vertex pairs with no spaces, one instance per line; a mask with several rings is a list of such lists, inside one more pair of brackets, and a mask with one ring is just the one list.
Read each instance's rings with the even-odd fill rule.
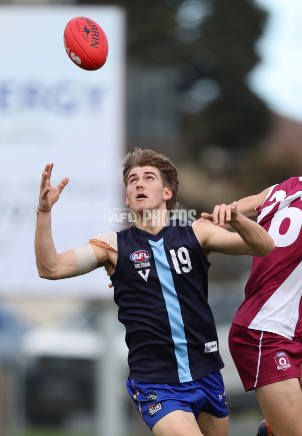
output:
[[178,173],[163,155],[135,149],[123,167],[126,204],[139,220],[58,254],[50,211],[68,179],[52,187],[53,164],[46,165],[35,237],[39,275],[61,279],[105,266],[126,330],[127,388],[142,419],[157,436],[227,436],[223,362],[207,302],[208,255],[266,256],[273,241],[236,203],[226,214],[236,233],[170,220]]

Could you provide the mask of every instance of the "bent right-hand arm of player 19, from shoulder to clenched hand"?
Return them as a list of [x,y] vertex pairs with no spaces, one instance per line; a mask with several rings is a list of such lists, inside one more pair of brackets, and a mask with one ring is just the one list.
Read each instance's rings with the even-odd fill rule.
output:
[[[236,233],[228,232],[210,223],[194,223],[194,233],[208,255],[211,251],[229,255],[267,256],[275,245],[269,234],[257,223],[250,220],[237,209],[237,203],[231,207],[221,204],[214,209],[220,221],[228,222]],[[223,224],[222,224],[223,225]]]

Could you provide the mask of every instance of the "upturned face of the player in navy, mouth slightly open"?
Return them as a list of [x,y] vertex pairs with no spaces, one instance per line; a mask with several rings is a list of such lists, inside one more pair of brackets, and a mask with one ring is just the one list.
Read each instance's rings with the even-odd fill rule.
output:
[[163,186],[161,172],[152,166],[134,167],[128,176],[126,204],[131,209],[163,210],[166,201],[172,197],[170,188]]

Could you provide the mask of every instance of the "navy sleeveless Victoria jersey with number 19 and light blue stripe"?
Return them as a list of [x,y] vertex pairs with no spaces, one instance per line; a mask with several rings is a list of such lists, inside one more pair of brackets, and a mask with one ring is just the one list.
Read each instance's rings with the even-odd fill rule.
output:
[[117,243],[111,280],[129,379],[183,383],[223,368],[207,302],[210,263],[192,227],[173,220],[154,236],[133,226]]

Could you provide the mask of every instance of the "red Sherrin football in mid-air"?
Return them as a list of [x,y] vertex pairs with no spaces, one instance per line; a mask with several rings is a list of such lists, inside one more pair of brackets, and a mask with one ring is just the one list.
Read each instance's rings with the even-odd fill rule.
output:
[[108,55],[108,41],[104,30],[87,17],[75,17],[64,30],[65,50],[76,65],[95,70],[104,65]]

